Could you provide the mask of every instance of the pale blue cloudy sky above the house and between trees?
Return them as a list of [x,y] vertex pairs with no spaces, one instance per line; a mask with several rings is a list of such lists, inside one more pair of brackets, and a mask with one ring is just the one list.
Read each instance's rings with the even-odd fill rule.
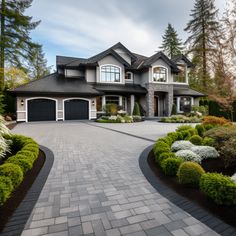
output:
[[[215,0],[220,12],[226,1]],[[33,0],[26,14],[41,20],[31,37],[55,69],[56,55],[87,58],[117,42],[151,56],[160,50],[168,23],[185,41],[193,5],[194,0]]]

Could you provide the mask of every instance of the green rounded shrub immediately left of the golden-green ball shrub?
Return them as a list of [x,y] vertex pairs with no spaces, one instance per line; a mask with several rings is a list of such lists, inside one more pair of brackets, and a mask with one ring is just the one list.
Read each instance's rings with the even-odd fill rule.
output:
[[175,176],[183,159],[178,157],[168,157],[161,162],[161,168],[166,175]]

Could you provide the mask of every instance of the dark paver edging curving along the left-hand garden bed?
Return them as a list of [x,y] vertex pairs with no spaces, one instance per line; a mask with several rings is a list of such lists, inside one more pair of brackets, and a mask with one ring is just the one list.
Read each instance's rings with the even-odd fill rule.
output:
[[45,154],[45,162],[43,164],[43,167],[41,168],[29,191],[25,195],[23,201],[17,207],[8,223],[4,227],[3,231],[1,232],[2,236],[21,235],[48,178],[53,165],[54,155],[50,149],[44,146],[40,145],[39,148]]

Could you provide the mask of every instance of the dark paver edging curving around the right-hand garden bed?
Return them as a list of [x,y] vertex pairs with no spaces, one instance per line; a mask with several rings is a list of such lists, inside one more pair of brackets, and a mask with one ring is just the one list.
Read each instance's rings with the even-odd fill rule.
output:
[[171,188],[166,186],[165,184],[160,181],[155,174],[150,169],[147,158],[151,150],[153,149],[154,145],[151,145],[143,150],[139,157],[139,166],[146,177],[148,182],[164,197],[166,197],[169,201],[201,221],[203,224],[210,227],[212,230],[216,231],[220,235],[229,236],[233,235],[236,232],[236,229],[232,226],[226,224],[222,220],[218,219],[214,215],[210,214],[206,210],[199,207],[197,204],[189,201],[187,198],[179,195]]

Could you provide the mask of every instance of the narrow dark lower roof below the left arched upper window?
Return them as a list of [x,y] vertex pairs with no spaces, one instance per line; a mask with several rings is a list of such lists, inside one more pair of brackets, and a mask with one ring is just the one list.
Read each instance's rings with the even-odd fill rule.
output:
[[138,84],[95,84],[94,88],[101,92],[122,93],[122,94],[146,94],[147,90]]

